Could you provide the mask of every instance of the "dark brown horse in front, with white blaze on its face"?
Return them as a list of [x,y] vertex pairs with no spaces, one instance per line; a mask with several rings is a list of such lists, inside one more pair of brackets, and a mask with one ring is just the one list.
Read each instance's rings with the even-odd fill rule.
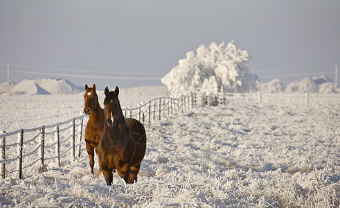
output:
[[105,127],[98,145],[100,167],[107,185],[115,169],[125,182],[137,182],[137,174],[146,150],[144,126],[136,119],[124,118],[118,100],[119,88],[105,88]]

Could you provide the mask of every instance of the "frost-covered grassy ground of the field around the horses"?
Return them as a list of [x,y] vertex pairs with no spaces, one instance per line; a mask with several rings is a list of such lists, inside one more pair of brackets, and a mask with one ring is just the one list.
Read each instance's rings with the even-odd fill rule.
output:
[[[120,103],[136,107],[165,92],[120,89]],[[0,96],[0,129],[68,120],[81,114],[83,99]],[[102,175],[89,174],[83,149],[61,168],[51,163],[44,173],[24,170],[23,180],[0,179],[0,207],[339,207],[339,98],[309,107],[263,100],[197,106],[146,123],[147,152],[135,184],[115,173],[109,187]]]

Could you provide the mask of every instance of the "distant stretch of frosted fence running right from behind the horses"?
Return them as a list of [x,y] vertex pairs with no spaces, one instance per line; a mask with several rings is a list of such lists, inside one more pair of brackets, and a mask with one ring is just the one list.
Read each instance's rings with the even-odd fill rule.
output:
[[227,105],[233,101],[250,102],[254,105],[319,105],[322,103],[340,103],[339,94],[262,94],[256,93],[224,93],[217,92],[206,94],[193,92],[179,98],[161,97],[154,98],[147,103],[142,103],[135,108],[124,108],[125,117],[133,117],[141,123],[161,120],[164,117],[174,116],[185,112],[197,105]]

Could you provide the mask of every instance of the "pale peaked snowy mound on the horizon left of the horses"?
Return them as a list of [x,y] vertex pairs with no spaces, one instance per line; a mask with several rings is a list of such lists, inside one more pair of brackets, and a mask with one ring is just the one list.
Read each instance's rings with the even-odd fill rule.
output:
[[82,88],[65,79],[22,80],[10,89],[10,94],[77,94]]

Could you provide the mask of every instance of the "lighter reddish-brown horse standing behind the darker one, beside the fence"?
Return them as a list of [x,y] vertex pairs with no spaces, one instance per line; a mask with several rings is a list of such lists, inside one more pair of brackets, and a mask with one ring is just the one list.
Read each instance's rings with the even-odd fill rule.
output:
[[[102,109],[98,102],[98,95],[96,92],[96,85],[93,87],[88,87],[85,85],[85,103],[84,103],[84,113],[89,115],[89,121],[85,128],[85,143],[87,154],[89,154],[91,174],[93,174],[94,166],[94,150],[98,156],[98,144],[100,137],[102,137],[102,132],[104,131],[105,116],[104,109]],[[99,174],[100,174],[100,161],[99,163]],[[98,175],[99,175],[98,174]]]

